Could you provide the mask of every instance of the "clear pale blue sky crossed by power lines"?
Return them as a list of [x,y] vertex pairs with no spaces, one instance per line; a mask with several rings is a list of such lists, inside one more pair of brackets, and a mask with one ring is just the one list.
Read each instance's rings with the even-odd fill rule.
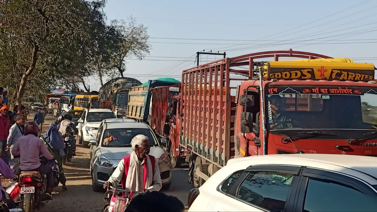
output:
[[[132,15],[148,28],[150,54],[141,61],[127,58],[125,72],[144,83],[159,77],[181,80],[182,70],[196,66],[196,52],[203,50],[225,51],[231,58],[292,48],[377,64],[376,8],[374,0],[108,0],[104,12],[109,23]],[[202,55],[199,61],[220,58]],[[98,77],[87,82],[99,90]]]

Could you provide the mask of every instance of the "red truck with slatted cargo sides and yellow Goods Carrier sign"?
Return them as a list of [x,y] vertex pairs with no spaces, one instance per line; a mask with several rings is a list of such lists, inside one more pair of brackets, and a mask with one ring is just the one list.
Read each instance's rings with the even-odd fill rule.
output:
[[[282,57],[305,60],[278,61]],[[169,120],[171,157],[189,151],[189,175],[198,187],[234,157],[377,156],[374,70],[373,64],[293,50],[184,70]]]

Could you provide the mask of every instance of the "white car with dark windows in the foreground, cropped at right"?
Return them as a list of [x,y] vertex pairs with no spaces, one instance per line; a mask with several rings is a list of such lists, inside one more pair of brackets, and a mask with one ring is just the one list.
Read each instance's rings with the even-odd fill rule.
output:
[[376,157],[251,156],[229,160],[192,189],[189,211],[376,211],[376,188]]

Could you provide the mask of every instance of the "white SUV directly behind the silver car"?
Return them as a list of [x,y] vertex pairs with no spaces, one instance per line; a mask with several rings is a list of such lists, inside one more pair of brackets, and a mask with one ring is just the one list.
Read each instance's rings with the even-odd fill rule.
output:
[[101,121],[107,118],[115,118],[110,109],[85,109],[81,118],[77,120],[78,141],[83,147],[89,147],[89,140],[95,139]]

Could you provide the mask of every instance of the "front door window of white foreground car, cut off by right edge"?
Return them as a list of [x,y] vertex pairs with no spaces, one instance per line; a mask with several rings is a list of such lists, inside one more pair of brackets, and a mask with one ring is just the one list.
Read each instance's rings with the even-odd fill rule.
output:
[[376,211],[377,200],[332,181],[309,179],[304,211]]

